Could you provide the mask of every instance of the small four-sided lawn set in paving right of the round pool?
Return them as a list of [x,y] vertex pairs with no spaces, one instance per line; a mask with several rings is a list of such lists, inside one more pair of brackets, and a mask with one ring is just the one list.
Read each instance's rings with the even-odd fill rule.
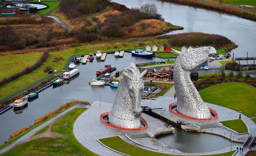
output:
[[222,123],[223,126],[225,127],[228,127],[230,129],[233,129],[234,131],[237,131],[238,133],[248,133],[247,126],[241,119],[220,121],[220,123]]

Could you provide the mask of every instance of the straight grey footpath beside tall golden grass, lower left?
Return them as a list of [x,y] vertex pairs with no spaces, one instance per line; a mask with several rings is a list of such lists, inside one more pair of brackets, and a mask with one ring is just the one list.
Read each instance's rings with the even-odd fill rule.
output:
[[43,123],[42,125],[34,128],[33,130],[29,131],[27,134],[23,135],[21,138],[19,138],[18,140],[14,141],[13,143],[11,143],[10,145],[6,146],[5,148],[3,148],[2,150],[0,150],[0,154],[6,152],[7,150],[11,149],[12,147],[16,146],[18,143],[20,143],[21,141],[29,138],[31,135],[33,135],[35,132],[37,132],[38,130],[42,129],[43,127],[47,126],[48,124],[54,122],[55,120],[57,120],[59,117],[62,117],[63,115],[65,115],[66,113],[68,113],[69,111],[73,110],[74,108],[90,108],[90,105],[81,105],[81,104],[76,104],[72,107],[70,107],[69,109],[63,111],[62,113],[56,115],[55,117],[51,118],[49,121],[46,121],[45,123]]

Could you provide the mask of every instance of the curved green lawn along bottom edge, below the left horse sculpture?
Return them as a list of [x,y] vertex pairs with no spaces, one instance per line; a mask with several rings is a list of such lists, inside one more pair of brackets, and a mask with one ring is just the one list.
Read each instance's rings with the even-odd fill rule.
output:
[[[115,137],[109,137],[109,138],[103,138],[99,139],[100,142],[105,144],[106,146],[110,147],[111,149],[117,150],[119,152],[132,155],[132,156],[177,156],[172,154],[165,154],[165,153],[159,153],[155,151],[150,151],[146,149],[142,149],[140,147],[134,146],[123,139],[121,139],[119,136]],[[234,153],[232,151],[232,153]],[[221,154],[214,154],[214,155],[208,155],[208,156],[229,156],[230,152],[227,153],[221,153]]]

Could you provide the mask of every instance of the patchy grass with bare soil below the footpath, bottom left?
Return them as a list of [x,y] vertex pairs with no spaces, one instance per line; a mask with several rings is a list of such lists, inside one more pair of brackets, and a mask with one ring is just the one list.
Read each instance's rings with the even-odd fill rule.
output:
[[51,131],[57,132],[61,137],[38,138],[23,144],[19,144],[4,155],[42,155],[54,153],[54,155],[97,155],[83,147],[74,137],[73,125],[79,115],[86,108],[75,108],[54,122]]

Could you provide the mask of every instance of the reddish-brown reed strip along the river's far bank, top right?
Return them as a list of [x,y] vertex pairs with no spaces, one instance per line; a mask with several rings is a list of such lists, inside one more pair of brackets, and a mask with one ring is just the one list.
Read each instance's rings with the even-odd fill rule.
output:
[[254,13],[250,13],[250,12],[247,12],[247,11],[243,11],[243,10],[240,10],[240,9],[235,9],[235,8],[231,8],[231,7],[227,7],[227,6],[221,6],[221,5],[212,4],[212,3],[200,2],[200,1],[197,1],[197,0],[168,0],[168,1],[183,3],[183,4],[189,4],[189,5],[195,5],[195,6],[202,6],[202,7],[207,7],[207,8],[210,8],[210,9],[221,10],[221,11],[225,11],[227,13],[231,13],[231,14],[241,16],[243,18],[252,19],[254,21],[256,20],[256,14],[254,14]]

